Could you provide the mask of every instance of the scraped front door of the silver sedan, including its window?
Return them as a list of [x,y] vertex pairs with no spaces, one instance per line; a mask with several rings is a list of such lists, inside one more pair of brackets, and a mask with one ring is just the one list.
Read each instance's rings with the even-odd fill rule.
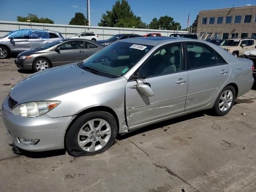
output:
[[154,94],[143,94],[135,80],[126,84],[126,118],[130,129],[185,111],[188,72],[183,70],[182,46],[156,51],[139,69]]

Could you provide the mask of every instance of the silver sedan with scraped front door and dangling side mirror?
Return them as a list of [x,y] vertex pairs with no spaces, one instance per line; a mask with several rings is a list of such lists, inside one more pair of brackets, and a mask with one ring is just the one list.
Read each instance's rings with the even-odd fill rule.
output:
[[227,114],[252,87],[252,66],[208,42],[131,38],[20,80],[2,115],[18,148],[91,155],[146,125],[206,109]]

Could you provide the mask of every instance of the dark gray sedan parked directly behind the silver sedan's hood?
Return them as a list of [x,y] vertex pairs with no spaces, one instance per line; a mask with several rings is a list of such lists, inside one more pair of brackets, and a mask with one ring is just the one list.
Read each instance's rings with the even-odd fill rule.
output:
[[64,39],[20,53],[15,64],[20,69],[42,71],[51,67],[82,61],[104,48],[91,40]]

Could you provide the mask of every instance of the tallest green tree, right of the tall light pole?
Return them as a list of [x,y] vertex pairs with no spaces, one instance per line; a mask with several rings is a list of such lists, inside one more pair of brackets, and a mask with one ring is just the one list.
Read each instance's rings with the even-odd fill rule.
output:
[[127,28],[145,28],[146,23],[141,21],[140,17],[137,17],[132,12],[127,0],[117,0],[112,6],[111,11],[106,11],[102,14],[102,18],[98,23],[99,26],[104,27],[127,27]]

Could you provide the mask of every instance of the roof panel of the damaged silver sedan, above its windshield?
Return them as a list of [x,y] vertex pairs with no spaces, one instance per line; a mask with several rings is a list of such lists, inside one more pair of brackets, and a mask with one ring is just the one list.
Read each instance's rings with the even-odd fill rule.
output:
[[144,44],[150,46],[156,46],[162,42],[184,42],[184,41],[193,41],[193,42],[202,42],[196,39],[190,38],[176,38],[176,37],[136,37],[120,40],[120,42],[128,42],[134,44]]

